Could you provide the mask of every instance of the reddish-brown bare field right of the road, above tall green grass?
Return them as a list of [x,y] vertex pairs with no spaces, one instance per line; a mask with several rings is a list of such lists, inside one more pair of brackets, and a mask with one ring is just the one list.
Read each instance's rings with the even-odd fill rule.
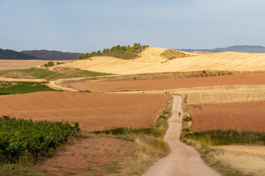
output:
[[[201,106],[201,108],[200,108]],[[188,106],[192,130],[237,129],[265,131],[265,101]]]

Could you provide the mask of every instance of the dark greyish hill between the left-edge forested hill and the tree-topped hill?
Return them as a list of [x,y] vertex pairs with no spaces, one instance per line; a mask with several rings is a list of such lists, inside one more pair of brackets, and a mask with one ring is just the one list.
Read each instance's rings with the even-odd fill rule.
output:
[[[69,53],[61,51],[48,51],[48,50],[25,50],[20,53],[36,56],[42,60],[75,60],[80,53]],[[81,53],[83,54],[83,53]]]

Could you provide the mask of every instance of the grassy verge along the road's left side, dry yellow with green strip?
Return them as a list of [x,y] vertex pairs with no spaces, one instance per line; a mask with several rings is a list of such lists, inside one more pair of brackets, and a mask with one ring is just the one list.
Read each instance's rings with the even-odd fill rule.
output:
[[112,175],[140,175],[156,160],[168,155],[170,148],[163,141],[163,137],[168,128],[167,119],[171,116],[171,108],[172,97],[170,96],[161,116],[156,119],[155,124],[150,128],[115,128],[92,132],[100,137],[133,141],[133,155],[128,160],[117,163],[121,169],[118,173]]

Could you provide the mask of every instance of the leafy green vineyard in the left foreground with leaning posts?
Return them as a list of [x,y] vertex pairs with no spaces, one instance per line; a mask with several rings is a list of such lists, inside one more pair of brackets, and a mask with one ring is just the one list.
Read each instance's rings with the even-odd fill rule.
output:
[[47,150],[68,141],[80,131],[78,122],[71,126],[66,122],[35,121],[0,117],[0,161],[14,162],[21,156]]

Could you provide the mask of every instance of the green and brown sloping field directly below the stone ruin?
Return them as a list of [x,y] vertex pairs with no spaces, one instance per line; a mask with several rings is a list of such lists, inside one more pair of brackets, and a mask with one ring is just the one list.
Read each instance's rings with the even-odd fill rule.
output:
[[81,70],[79,68],[59,67],[58,70],[51,71],[47,69],[14,69],[14,70],[0,70],[0,77],[14,78],[14,79],[66,79],[77,77],[96,77],[105,75],[115,75],[111,73],[93,72],[89,70]]

